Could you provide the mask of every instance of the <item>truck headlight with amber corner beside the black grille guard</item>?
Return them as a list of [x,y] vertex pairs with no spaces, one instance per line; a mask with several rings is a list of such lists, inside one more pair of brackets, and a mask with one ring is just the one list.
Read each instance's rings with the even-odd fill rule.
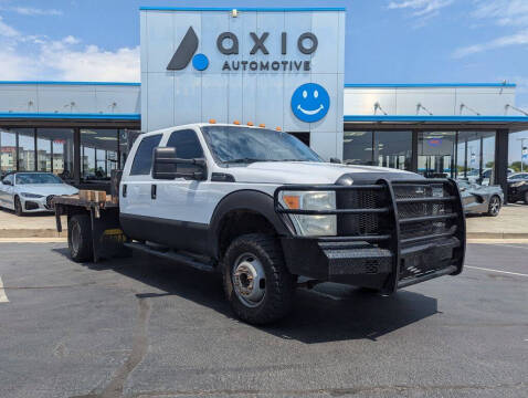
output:
[[[278,197],[285,209],[292,210],[335,210],[335,191],[281,191]],[[297,234],[304,237],[328,237],[337,234],[335,214],[288,214]]]

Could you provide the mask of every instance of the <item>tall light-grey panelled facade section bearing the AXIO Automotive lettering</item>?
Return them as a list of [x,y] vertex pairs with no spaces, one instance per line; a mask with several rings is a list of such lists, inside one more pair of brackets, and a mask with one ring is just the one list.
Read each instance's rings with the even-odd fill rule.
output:
[[345,10],[141,9],[141,128],[240,121],[342,155]]

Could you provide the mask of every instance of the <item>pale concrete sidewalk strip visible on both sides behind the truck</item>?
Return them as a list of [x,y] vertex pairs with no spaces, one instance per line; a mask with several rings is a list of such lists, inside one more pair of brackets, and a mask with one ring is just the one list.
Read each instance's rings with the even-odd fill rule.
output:
[[[66,238],[66,217],[59,233],[53,214],[17,217],[0,210],[0,239],[6,238]],[[528,206],[508,205],[498,217],[468,216],[468,239],[528,239]]]

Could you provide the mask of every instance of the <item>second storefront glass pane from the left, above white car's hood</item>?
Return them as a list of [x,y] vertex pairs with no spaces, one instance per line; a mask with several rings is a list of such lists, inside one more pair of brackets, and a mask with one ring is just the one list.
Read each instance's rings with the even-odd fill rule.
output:
[[36,158],[39,171],[50,171],[63,180],[73,180],[72,128],[38,128]]

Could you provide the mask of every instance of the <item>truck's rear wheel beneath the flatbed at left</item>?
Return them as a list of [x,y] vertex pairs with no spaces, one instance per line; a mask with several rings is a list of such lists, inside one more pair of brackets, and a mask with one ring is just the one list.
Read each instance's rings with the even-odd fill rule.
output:
[[75,262],[92,261],[92,226],[89,216],[75,214],[67,222],[67,247],[70,255]]

